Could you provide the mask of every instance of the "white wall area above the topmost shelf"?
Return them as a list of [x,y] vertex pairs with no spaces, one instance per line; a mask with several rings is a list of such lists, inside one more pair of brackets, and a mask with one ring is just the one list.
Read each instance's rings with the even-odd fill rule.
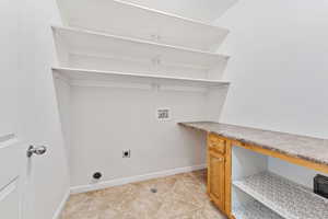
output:
[[212,23],[236,0],[122,0],[160,11]]

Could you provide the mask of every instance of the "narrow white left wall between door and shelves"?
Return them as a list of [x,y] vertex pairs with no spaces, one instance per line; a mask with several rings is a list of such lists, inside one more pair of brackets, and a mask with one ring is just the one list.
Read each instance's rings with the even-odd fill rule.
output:
[[[21,89],[19,137],[26,143],[46,145],[43,157],[28,163],[27,219],[50,219],[69,189],[69,173],[55,97],[50,67],[55,51],[50,24],[60,24],[55,0],[20,1],[20,33],[8,43],[19,43],[19,80]],[[27,147],[27,146],[26,146]]]

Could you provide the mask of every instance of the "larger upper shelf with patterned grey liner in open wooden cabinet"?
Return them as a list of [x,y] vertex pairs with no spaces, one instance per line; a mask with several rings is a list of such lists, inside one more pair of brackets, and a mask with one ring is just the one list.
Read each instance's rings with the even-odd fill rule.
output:
[[328,200],[305,187],[270,172],[262,172],[233,185],[286,219],[328,218]]

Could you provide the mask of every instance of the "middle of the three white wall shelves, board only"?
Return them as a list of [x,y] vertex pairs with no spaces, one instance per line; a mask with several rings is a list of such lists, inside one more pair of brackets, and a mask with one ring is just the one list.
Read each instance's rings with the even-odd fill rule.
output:
[[[69,51],[89,51],[93,55],[116,55],[136,58],[155,59],[176,62],[177,65],[195,65],[202,68],[213,68],[219,62],[226,62],[229,57],[214,53],[169,46],[129,37],[115,36],[93,31],[63,26],[52,26],[56,36],[61,37]],[[56,39],[56,38],[55,38]],[[90,54],[89,54],[90,55]]]

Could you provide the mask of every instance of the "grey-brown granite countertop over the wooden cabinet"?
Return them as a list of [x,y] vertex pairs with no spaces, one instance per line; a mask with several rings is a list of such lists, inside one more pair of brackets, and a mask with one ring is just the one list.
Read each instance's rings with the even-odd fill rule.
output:
[[328,139],[213,122],[179,123],[179,125],[328,165]]

